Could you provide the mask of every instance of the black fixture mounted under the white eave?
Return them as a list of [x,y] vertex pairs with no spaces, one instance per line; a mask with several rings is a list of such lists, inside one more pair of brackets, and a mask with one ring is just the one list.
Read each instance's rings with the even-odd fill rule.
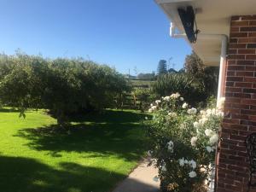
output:
[[200,32],[197,29],[195,22],[195,12],[192,6],[188,6],[186,9],[178,8],[178,15],[182,20],[184,30],[186,32],[187,38],[191,44],[195,44],[197,39],[197,34]]

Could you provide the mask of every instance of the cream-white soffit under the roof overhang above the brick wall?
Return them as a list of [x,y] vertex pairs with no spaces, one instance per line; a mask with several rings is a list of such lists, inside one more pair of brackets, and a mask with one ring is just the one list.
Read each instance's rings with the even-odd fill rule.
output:
[[[201,34],[224,34],[229,37],[231,16],[256,15],[256,0],[155,0],[155,2],[180,32],[184,30],[177,8],[185,8],[189,5],[196,10],[195,20]],[[220,38],[198,38],[195,44],[190,45],[206,65],[219,65]]]

